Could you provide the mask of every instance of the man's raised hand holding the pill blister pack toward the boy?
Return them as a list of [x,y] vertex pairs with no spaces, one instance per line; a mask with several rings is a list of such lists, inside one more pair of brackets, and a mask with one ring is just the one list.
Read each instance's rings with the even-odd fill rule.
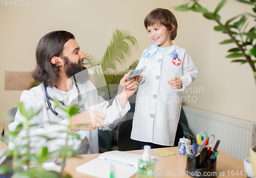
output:
[[137,90],[137,83],[135,82],[135,79],[126,79],[132,71],[133,70],[130,70],[123,76],[118,87],[117,99],[122,108],[124,108],[126,100]]

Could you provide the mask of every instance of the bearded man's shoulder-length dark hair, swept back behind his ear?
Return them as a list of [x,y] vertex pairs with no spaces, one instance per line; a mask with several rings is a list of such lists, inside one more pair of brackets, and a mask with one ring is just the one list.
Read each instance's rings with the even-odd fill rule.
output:
[[36,46],[36,68],[32,74],[38,83],[44,82],[46,86],[54,86],[59,77],[58,64],[52,64],[52,57],[62,56],[64,44],[74,35],[66,31],[54,31],[43,36]]

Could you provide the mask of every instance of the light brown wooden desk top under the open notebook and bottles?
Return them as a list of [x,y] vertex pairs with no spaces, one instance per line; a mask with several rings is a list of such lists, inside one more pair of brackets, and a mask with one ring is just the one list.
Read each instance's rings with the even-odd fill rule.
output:
[[[161,150],[162,148],[152,149],[151,155],[156,156],[156,166],[155,166],[155,177],[190,177],[187,174],[183,174],[183,171],[186,167],[186,156],[181,156],[178,154],[178,147],[169,147],[167,149],[176,152],[176,155],[168,156],[168,157],[160,157],[158,155],[153,154],[156,150]],[[134,150],[127,151],[132,152],[134,154],[142,154],[143,150]],[[93,155],[80,155],[80,158],[70,158],[67,160],[67,165],[64,168],[64,171],[70,174],[73,178],[80,177],[94,177],[91,175],[83,174],[80,172],[76,172],[76,167],[81,164],[87,163],[95,158],[97,158],[100,154]],[[228,175],[229,171],[229,175]],[[238,171],[240,173],[242,171],[243,175],[235,174]],[[180,173],[181,172],[181,173]],[[244,171],[244,162],[231,157],[223,152],[220,152],[217,157],[217,177],[247,177]],[[234,175],[231,175],[231,172],[234,172]],[[176,175],[175,175],[176,173]],[[220,175],[222,173],[222,175]],[[162,174],[162,175],[161,175]],[[173,176],[172,176],[173,174]],[[137,177],[134,175],[133,178]]]

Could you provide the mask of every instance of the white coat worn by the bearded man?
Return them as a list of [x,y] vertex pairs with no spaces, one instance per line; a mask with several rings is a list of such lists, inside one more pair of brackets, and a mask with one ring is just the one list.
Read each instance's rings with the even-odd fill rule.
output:
[[[123,116],[130,110],[129,101],[126,102],[125,108],[121,109],[118,100],[115,98],[113,100],[112,106],[108,108],[109,102],[105,101],[102,97],[98,96],[97,89],[88,81],[85,84],[78,84],[79,90],[81,92],[82,99],[84,101],[84,107],[86,110],[97,110],[106,114],[105,123],[108,125],[107,130],[112,131],[115,126],[119,123],[119,121],[123,118]],[[72,102],[78,102],[77,99],[77,89],[75,84],[73,85],[73,93],[71,98]],[[56,87],[47,87],[47,92],[50,97],[56,98],[57,100],[63,101],[62,96],[58,92]],[[25,90],[20,96],[20,103],[23,103],[25,108],[28,110],[29,108],[33,108],[33,111],[36,112],[41,108],[41,111],[36,116],[32,117],[29,121],[30,124],[37,124],[36,126],[32,126],[27,133],[25,130],[22,130],[18,137],[14,139],[10,136],[9,141],[9,149],[14,149],[15,142],[17,145],[26,143],[26,140],[22,140],[26,134],[30,136],[36,135],[45,135],[50,138],[56,137],[56,139],[51,141],[46,141],[45,138],[42,137],[33,137],[31,140],[31,148],[34,151],[36,147],[39,146],[47,146],[48,151],[52,152],[60,149],[62,146],[66,144],[67,133],[63,131],[68,130],[68,120],[67,115],[59,108],[55,108],[55,103],[50,101],[53,110],[55,110],[61,117],[54,115],[50,109],[47,110],[46,107],[46,96],[44,91],[44,85],[40,84],[37,87],[32,88],[31,90]],[[25,117],[20,113],[18,109],[15,120],[13,123],[9,124],[9,131],[14,131],[17,125],[23,121],[25,121]],[[103,128],[100,128],[103,130]],[[95,130],[90,130],[87,134],[87,139],[90,144],[91,153],[97,154],[98,151],[98,128]],[[73,145],[72,138],[68,139],[68,146]]]

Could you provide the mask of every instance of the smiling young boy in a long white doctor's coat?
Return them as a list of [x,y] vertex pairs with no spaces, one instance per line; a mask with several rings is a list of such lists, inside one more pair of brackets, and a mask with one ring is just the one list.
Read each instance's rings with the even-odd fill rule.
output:
[[135,80],[141,84],[136,98],[131,138],[141,147],[173,146],[180,117],[181,95],[197,77],[186,49],[175,45],[177,20],[167,9],[154,9],[144,19],[154,43],[144,50],[136,69],[146,66]]

